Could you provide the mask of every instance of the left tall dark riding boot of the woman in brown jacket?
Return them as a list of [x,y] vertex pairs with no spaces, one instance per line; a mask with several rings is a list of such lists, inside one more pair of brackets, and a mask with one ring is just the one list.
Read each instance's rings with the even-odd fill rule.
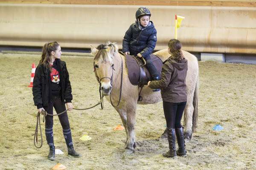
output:
[[176,148],[175,148],[175,129],[167,127],[167,135],[168,135],[168,142],[169,142],[169,151],[166,153],[163,153],[164,157],[174,157],[176,155]]

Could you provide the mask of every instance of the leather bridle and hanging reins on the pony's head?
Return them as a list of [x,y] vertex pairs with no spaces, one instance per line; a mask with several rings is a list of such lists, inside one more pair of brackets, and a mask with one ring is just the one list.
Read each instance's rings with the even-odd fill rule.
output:
[[[98,51],[98,52],[99,52],[99,51]],[[121,57],[121,56],[120,56],[120,57]],[[122,61],[122,57],[121,57],[121,61]],[[110,79],[111,86],[113,87],[113,85],[112,85],[112,82],[113,82],[113,71],[116,71],[116,70],[114,69],[114,67],[112,67],[112,74],[111,74],[111,77],[101,77],[101,78],[99,78],[99,76],[97,75],[97,71],[96,71],[96,67],[95,67],[95,62],[93,62],[93,68],[94,68],[95,77],[96,77],[97,81],[99,82],[99,95],[100,95],[100,99],[103,100],[103,94],[101,93],[101,81],[102,81],[102,79]],[[110,102],[111,102],[111,105],[112,105],[113,107],[117,107],[117,106],[120,104],[120,101],[121,101],[121,95],[122,95],[122,79],[123,79],[123,62],[121,62],[120,93],[119,93],[119,100],[118,100],[117,105],[113,105],[113,102],[112,102],[112,99],[111,99],[112,90],[111,90],[111,92],[110,92]]]

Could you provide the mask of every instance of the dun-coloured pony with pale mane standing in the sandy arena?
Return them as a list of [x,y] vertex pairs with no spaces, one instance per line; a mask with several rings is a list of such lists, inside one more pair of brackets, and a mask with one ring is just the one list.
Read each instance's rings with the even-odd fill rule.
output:
[[[137,102],[139,88],[129,81],[125,56],[118,52],[117,45],[107,42],[97,48],[91,46],[91,51],[94,56],[96,77],[100,82],[102,93],[107,97],[108,101],[113,103],[113,107],[119,113],[127,136],[125,148],[128,149],[128,153],[132,153],[136,147],[134,125],[137,104],[144,105],[160,102],[162,100],[160,91],[153,92],[148,86],[144,86],[141,92],[143,100]],[[188,60],[186,76],[188,99],[184,111],[184,135],[185,139],[190,140],[192,132],[195,132],[198,117],[198,60],[189,52],[182,52]],[[170,57],[167,49],[157,51],[154,54],[163,61]],[[120,88],[122,88],[121,98],[119,96]]]

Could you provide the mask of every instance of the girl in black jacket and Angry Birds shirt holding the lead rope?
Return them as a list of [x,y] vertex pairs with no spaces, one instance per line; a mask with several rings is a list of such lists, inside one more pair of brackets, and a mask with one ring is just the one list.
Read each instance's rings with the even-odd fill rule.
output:
[[[38,108],[38,112],[47,111],[53,114],[53,107],[57,113],[73,109],[71,100],[71,85],[66,62],[61,61],[61,46],[58,42],[44,44],[41,60],[35,70],[33,80],[33,99]],[[80,157],[74,150],[70,124],[67,111],[58,116],[63,129],[64,139],[67,144],[68,155]],[[53,142],[53,116],[45,117],[45,135],[49,145],[48,159],[54,161],[55,147]]]

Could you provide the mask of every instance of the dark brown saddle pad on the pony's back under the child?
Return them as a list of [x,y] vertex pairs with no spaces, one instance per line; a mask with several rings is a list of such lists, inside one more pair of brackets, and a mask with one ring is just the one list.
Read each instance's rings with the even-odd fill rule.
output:
[[[157,68],[157,73],[159,78],[161,78],[161,71],[163,66],[163,61],[154,54],[150,55],[151,61]],[[126,67],[128,69],[128,77],[132,85],[138,85],[140,82],[140,65],[134,56],[126,55]],[[146,81],[151,80],[148,68],[145,66]]]

